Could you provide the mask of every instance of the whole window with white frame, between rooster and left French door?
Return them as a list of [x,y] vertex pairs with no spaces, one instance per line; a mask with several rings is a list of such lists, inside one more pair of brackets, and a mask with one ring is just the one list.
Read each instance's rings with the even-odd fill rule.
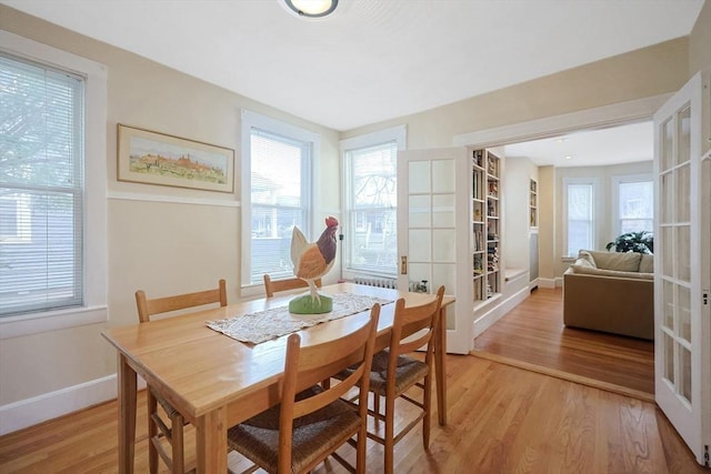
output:
[[404,127],[341,143],[346,273],[397,275],[399,149],[404,149]]

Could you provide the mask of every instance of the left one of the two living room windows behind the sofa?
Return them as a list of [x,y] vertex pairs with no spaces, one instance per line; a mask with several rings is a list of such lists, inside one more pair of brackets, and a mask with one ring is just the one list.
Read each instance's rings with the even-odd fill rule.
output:
[[594,183],[591,180],[563,181],[565,212],[565,256],[594,249]]

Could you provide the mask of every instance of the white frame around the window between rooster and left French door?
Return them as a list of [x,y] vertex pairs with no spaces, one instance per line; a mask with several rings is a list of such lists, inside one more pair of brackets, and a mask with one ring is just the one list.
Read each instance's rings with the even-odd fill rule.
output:
[[[341,226],[341,234],[343,234],[343,245],[341,246],[341,251],[343,252],[343,268],[341,269],[341,274],[343,279],[353,280],[357,276],[383,276],[383,278],[397,278],[398,269],[395,268],[393,273],[388,272],[378,272],[378,271],[364,271],[362,269],[354,269],[350,265],[350,261],[348,255],[350,254],[351,242],[354,242],[354,235],[351,233],[351,213],[352,211],[352,177],[350,175],[350,167],[349,153],[354,150],[362,150],[367,148],[378,147],[380,144],[385,143],[395,143],[397,152],[407,150],[407,127],[405,125],[397,125],[389,129],[379,130],[371,133],[365,133],[358,137],[352,137],[349,139],[341,140],[340,142],[340,154],[341,154],[341,163],[342,163],[342,201],[343,201],[343,222]],[[395,169],[397,171],[397,169]],[[395,173],[397,175],[397,173]],[[397,179],[397,178],[395,178]],[[395,209],[397,213],[397,209]],[[397,214],[395,214],[397,215]],[[395,225],[397,229],[397,225]],[[397,241],[395,241],[397,245]]]

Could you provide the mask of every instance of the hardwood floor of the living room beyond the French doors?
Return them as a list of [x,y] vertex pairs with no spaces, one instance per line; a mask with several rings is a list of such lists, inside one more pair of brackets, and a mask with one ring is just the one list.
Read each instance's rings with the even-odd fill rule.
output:
[[565,327],[560,289],[531,293],[474,346],[478,356],[654,400],[654,343]]

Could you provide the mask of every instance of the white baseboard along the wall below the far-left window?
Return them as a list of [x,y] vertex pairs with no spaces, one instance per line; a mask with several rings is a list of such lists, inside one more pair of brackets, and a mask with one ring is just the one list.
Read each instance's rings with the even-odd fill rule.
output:
[[[138,377],[138,387],[146,382]],[[0,435],[117,397],[116,374],[0,406]]]

